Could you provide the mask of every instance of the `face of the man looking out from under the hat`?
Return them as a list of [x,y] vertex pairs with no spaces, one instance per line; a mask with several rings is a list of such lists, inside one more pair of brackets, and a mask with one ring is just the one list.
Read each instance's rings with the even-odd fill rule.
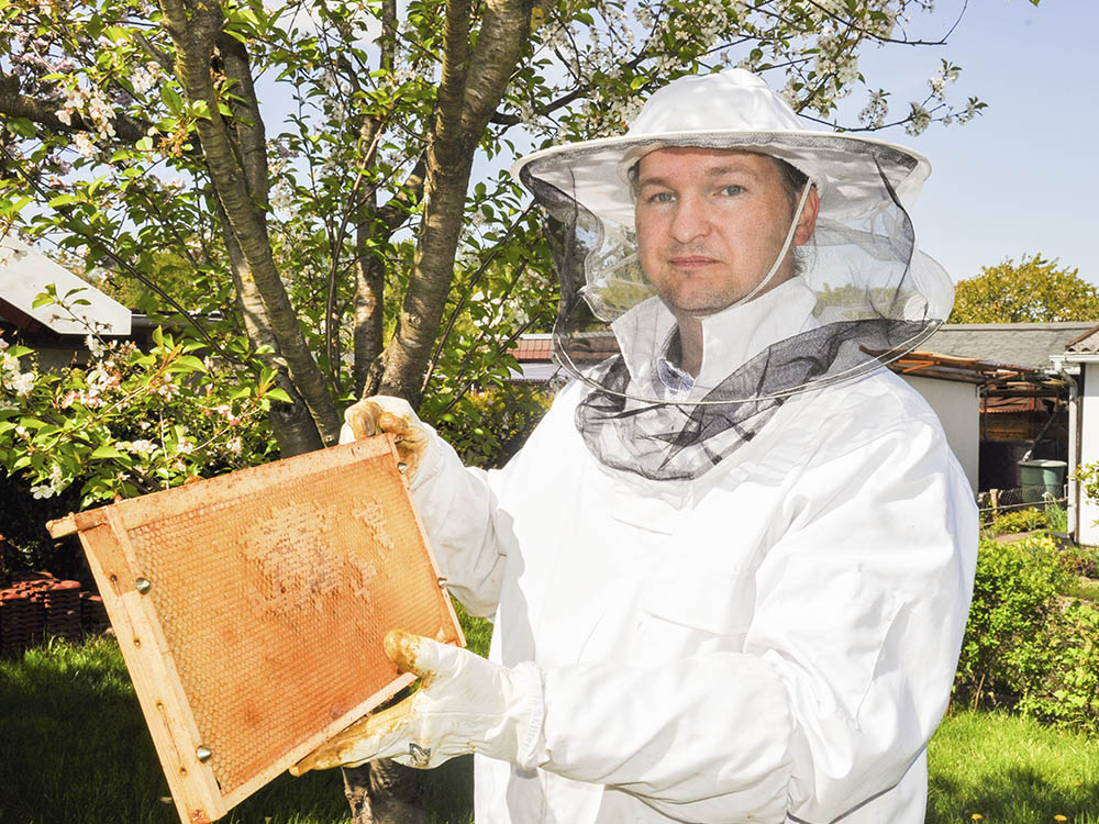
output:
[[[793,210],[766,155],[670,147],[637,164],[637,253],[646,277],[678,312],[707,315],[743,298],[770,270]],[[795,243],[817,218],[811,191]],[[792,248],[767,289],[793,275]]]

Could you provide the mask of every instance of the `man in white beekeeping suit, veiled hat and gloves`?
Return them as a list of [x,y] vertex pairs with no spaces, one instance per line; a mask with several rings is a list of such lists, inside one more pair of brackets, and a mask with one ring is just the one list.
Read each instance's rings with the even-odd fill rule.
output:
[[514,172],[576,379],[499,471],[392,399],[348,415],[406,428],[489,660],[390,633],[423,688],[300,769],[473,751],[479,824],[922,822],[977,536],[939,421],[882,367],[950,312],[906,211],[928,163],[806,131],[736,69]]

